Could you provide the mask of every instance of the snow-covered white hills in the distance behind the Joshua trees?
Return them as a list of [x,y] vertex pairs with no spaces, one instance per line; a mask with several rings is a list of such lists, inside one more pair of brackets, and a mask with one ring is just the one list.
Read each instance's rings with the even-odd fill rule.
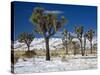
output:
[[[73,39],[74,41],[78,41],[78,39]],[[83,39],[84,40],[84,39]],[[87,40],[87,45],[86,47],[89,48],[89,41]],[[93,44],[96,43],[97,40],[96,38],[93,39]],[[63,48],[62,44],[62,39],[61,38],[50,38],[49,39],[49,47],[50,50],[59,50]],[[17,41],[14,42],[14,50],[17,51],[22,51],[22,50],[27,50],[27,46],[24,43],[20,43]],[[45,40],[44,38],[35,38],[30,46],[30,50],[45,50]]]

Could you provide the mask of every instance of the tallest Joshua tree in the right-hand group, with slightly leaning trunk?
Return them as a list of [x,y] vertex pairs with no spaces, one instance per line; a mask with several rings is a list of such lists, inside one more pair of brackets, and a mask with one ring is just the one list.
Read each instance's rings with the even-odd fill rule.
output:
[[82,47],[82,36],[83,36],[83,26],[80,27],[76,27],[75,26],[75,33],[77,34],[77,38],[80,41],[80,46],[81,46],[81,54],[82,56],[84,56],[84,51],[83,51],[83,47]]

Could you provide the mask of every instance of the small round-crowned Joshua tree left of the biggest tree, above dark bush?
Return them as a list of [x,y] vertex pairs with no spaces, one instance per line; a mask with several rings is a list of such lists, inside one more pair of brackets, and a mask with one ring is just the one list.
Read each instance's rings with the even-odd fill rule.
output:
[[19,42],[25,43],[27,45],[28,51],[30,51],[30,44],[33,41],[34,36],[31,33],[23,32],[19,35]]

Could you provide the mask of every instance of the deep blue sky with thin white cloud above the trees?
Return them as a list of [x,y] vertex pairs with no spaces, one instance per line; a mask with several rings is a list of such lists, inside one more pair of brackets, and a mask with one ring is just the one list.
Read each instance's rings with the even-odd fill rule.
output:
[[[48,4],[48,3],[33,3],[33,2],[14,2],[14,35],[15,39],[22,32],[32,33],[33,24],[29,21],[35,7],[43,7],[46,13],[52,13],[64,16],[68,22],[53,36],[60,37],[63,28],[74,33],[74,26],[84,26],[84,32],[90,28],[95,30],[97,36],[97,7],[96,6],[80,6],[80,5],[63,5],[63,4]],[[35,34],[36,38],[43,37]]]

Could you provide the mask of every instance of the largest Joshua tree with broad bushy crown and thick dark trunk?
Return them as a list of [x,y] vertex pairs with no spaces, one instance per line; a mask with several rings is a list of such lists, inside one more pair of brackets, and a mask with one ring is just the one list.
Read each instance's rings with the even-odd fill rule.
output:
[[54,35],[65,23],[64,16],[58,19],[57,14],[45,13],[45,9],[35,7],[31,15],[30,21],[34,25],[34,31],[43,35],[46,45],[46,60],[50,60],[49,39]]

